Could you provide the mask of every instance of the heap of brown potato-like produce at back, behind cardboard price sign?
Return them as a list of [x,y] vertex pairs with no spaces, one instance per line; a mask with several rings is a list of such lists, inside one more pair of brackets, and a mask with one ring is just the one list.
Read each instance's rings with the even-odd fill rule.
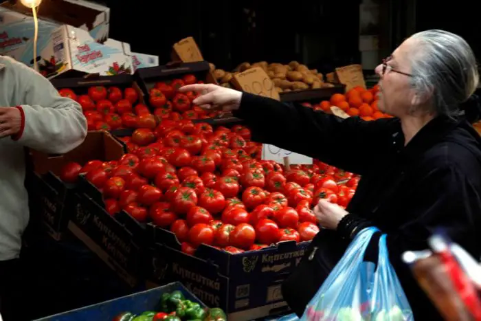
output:
[[232,72],[216,69],[214,65],[211,65],[214,78],[224,87],[231,87],[230,80],[232,80],[234,74],[253,67],[264,69],[274,85],[276,85],[276,90],[280,93],[333,87],[333,84],[324,82],[324,76],[317,69],[309,69],[309,67],[297,61],[291,61],[288,65],[267,63],[266,61],[252,64],[242,63]]

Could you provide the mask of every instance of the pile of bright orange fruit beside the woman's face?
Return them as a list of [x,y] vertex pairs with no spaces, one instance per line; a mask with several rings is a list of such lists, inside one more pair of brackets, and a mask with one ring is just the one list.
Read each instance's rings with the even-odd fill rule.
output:
[[371,89],[363,89],[355,87],[350,89],[346,94],[335,93],[331,96],[331,100],[323,100],[317,106],[313,106],[315,110],[330,112],[332,106],[337,106],[346,111],[350,116],[360,116],[363,120],[377,120],[379,118],[392,117],[386,113],[382,113],[377,108],[377,93],[379,85],[375,85]]

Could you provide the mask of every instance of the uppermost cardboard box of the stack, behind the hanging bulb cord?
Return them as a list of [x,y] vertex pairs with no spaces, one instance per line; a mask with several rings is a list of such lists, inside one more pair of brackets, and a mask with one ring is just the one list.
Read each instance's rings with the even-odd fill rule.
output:
[[[82,0],[43,0],[38,7],[37,61],[49,62],[51,56],[41,55],[50,45],[52,32],[66,23],[89,32],[96,41],[109,35],[110,9]],[[20,1],[0,5],[0,54],[11,56],[25,65],[34,64],[34,19],[32,10]]]

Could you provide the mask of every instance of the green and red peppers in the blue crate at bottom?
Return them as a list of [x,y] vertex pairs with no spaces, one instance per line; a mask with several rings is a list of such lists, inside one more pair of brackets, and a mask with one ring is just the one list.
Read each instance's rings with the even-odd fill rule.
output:
[[225,321],[224,311],[219,308],[203,308],[199,303],[186,300],[182,291],[163,294],[159,300],[160,311],[145,311],[139,315],[123,312],[113,321]]

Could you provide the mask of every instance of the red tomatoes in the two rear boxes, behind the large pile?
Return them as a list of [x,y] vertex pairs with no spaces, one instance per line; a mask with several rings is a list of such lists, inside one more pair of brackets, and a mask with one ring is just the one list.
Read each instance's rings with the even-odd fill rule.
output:
[[139,101],[139,93],[128,87],[93,86],[86,94],[75,93],[69,88],[60,89],[60,96],[76,100],[87,118],[89,131],[115,129],[155,129],[161,119],[204,119],[214,118],[218,112],[207,113],[192,104],[196,95],[190,91],[186,94],[178,93],[177,89],[183,85],[201,83],[197,78],[188,74],[183,78],[166,82],[156,82],[149,90],[148,104]]

